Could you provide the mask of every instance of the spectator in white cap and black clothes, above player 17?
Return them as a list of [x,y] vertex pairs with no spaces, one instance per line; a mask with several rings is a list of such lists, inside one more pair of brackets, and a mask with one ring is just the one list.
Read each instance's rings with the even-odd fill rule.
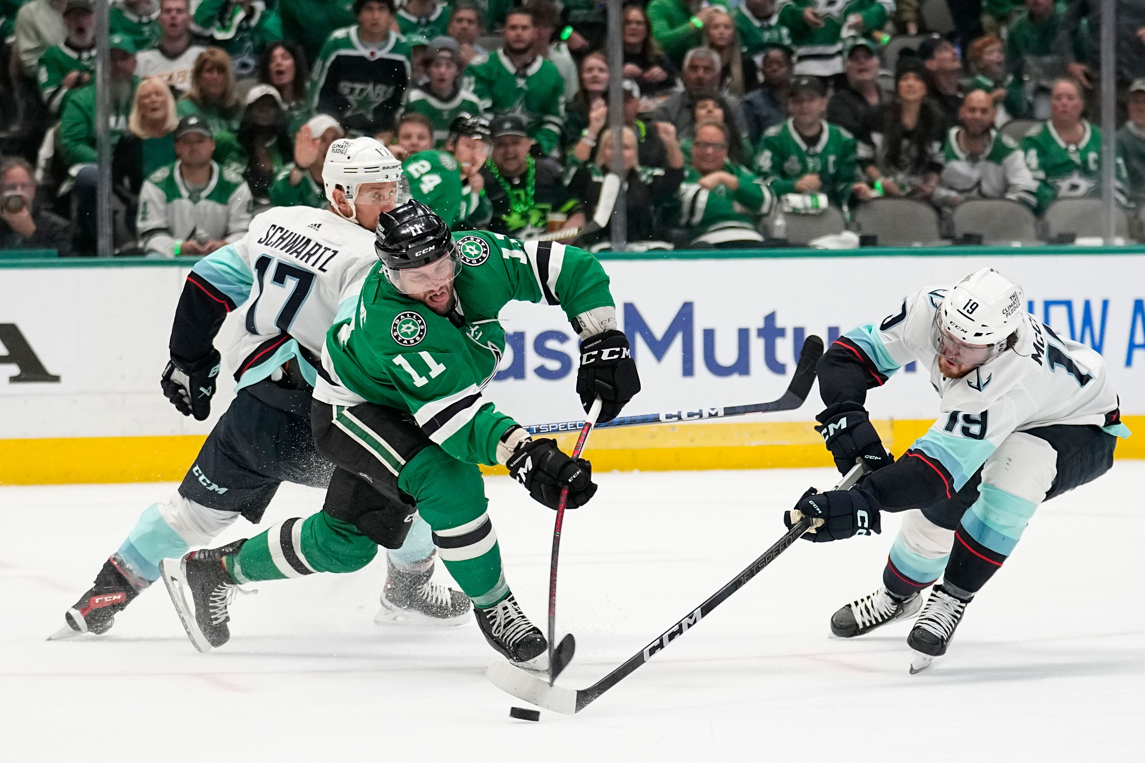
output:
[[237,139],[246,157],[243,179],[259,202],[268,198],[270,184],[294,155],[287,121],[286,107],[274,86],[255,85],[250,89]]

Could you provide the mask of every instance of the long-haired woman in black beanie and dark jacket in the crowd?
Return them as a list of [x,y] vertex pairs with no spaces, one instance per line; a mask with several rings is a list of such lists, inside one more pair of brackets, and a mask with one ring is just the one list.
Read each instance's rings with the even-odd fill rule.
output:
[[926,70],[915,56],[900,56],[894,95],[886,108],[870,115],[862,131],[866,175],[883,196],[929,200],[942,171],[946,139],[942,115],[926,97]]

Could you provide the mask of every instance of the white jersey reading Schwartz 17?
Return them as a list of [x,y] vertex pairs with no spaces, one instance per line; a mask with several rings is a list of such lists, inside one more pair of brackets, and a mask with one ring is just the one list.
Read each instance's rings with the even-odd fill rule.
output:
[[354,310],[377,261],[371,231],[308,206],[263,212],[242,239],[199,260],[194,273],[240,306],[245,331],[227,351],[236,388],[291,357],[314,385],[326,331]]

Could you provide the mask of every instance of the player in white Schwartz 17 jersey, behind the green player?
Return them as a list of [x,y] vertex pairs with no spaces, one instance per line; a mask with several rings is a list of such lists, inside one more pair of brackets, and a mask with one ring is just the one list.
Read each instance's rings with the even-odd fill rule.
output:
[[[179,489],[143,512],[53,638],[106,632],[114,615],[159,579],[161,559],[206,545],[240,516],[259,522],[283,481],[329,486],[325,511],[369,526],[360,502],[331,485],[334,467],[310,432],[310,395],[324,373],[326,330],[340,309],[357,304],[377,261],[373,229],[378,215],[397,204],[401,174],[401,163],[373,139],[335,141],[323,166],[327,209],[270,210],[240,241],[195,265],[175,312],[164,394],[184,416],[207,418],[221,360],[214,338],[227,314],[242,309],[245,330],[228,351],[238,394]],[[404,544],[390,544],[378,621],[467,621],[468,598],[429,580],[429,527],[420,519],[406,527]],[[299,528],[287,520],[278,530],[276,537],[289,537]],[[314,572],[289,553],[275,563],[289,576]]]

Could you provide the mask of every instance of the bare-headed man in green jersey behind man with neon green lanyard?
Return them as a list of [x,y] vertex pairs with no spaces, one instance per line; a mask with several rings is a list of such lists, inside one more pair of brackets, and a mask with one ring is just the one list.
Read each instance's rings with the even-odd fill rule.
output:
[[484,111],[523,115],[529,137],[551,156],[560,148],[564,80],[551,61],[534,50],[536,34],[528,10],[511,10],[505,18],[505,46],[474,58],[465,70],[465,81]]

